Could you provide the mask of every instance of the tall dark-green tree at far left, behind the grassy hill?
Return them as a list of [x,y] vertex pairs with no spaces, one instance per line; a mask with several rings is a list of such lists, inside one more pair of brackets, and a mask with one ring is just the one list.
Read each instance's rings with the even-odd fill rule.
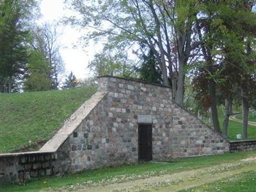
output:
[[24,74],[28,60],[29,22],[35,17],[36,1],[0,2],[0,92],[12,92]]

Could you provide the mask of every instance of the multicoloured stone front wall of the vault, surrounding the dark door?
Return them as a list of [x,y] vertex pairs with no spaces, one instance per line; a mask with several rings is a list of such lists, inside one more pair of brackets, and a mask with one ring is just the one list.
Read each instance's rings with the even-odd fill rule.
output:
[[70,135],[70,171],[138,162],[138,116],[152,119],[153,159],[223,154],[229,143],[172,101],[170,88],[101,77],[108,94]]

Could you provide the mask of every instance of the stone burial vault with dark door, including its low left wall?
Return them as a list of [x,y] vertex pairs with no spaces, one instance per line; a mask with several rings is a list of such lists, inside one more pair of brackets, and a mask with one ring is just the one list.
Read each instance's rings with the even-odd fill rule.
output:
[[227,140],[171,96],[166,86],[99,77],[97,93],[40,150],[0,154],[0,182],[229,152]]

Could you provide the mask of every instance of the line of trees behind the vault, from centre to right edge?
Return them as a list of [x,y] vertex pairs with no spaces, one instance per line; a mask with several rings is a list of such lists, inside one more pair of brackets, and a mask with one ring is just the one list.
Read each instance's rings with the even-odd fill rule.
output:
[[[256,95],[254,0],[72,0],[70,8],[79,17],[65,21],[91,31],[85,44],[105,42],[89,65],[95,74],[162,83],[181,106],[189,79],[198,109],[211,109],[218,132],[217,106],[225,104],[225,137],[232,103],[241,102],[247,138]],[[125,60],[129,51],[138,62]]]

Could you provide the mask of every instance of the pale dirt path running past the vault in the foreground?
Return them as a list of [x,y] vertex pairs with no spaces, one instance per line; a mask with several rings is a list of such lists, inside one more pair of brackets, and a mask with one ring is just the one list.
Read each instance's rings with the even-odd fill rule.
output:
[[[112,180],[100,184],[80,186],[74,191],[179,191],[202,186],[219,179],[256,169],[256,157],[231,163],[222,163],[205,168],[172,174],[148,177],[145,179]],[[63,189],[61,191],[66,191]],[[68,189],[70,191],[70,189]]]

